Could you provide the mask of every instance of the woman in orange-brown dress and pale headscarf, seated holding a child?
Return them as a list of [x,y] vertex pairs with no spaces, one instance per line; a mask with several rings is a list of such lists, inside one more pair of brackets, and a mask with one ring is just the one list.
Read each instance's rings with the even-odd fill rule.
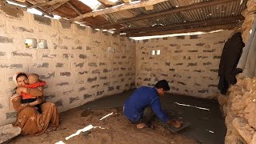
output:
[[[22,87],[28,84],[26,73],[14,74],[13,80],[15,85],[18,86],[16,92],[11,97],[14,110],[18,112],[14,126],[19,126],[22,129],[22,135],[40,135],[47,128],[50,130],[56,129],[59,125],[58,110],[52,102],[42,103],[42,98],[39,97],[42,96],[42,87],[34,89]],[[22,103],[22,96],[20,95],[22,92],[39,98],[34,102]],[[38,113],[38,110],[34,108],[34,106],[40,103],[42,103],[42,114]]]

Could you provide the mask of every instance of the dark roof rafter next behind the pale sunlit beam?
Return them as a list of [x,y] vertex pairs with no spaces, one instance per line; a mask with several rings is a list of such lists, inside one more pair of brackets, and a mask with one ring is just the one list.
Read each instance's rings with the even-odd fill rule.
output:
[[114,24],[107,23],[107,24],[99,25],[99,26],[97,26],[97,28],[116,26],[116,25],[119,25],[122,23],[134,22],[134,21],[139,21],[139,20],[148,19],[148,18],[155,18],[158,16],[166,15],[166,14],[176,14],[176,13],[180,13],[180,12],[186,11],[186,10],[194,10],[194,9],[198,9],[198,8],[202,8],[202,7],[206,7],[206,6],[214,6],[214,5],[219,5],[219,4],[223,4],[226,2],[234,2],[234,1],[237,1],[237,0],[212,0],[212,1],[198,2],[198,3],[192,4],[192,5],[182,6],[182,7],[174,8],[171,10],[163,10],[161,12],[154,13],[154,14],[143,14],[142,16],[138,16],[136,18],[122,19],[118,22],[115,22]]

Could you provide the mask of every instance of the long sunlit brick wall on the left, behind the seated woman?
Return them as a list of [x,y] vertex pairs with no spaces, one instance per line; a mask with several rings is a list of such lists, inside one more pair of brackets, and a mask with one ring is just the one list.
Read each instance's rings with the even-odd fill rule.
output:
[[[25,38],[45,39],[49,49],[28,49]],[[44,96],[64,111],[134,88],[135,42],[88,27],[0,7],[0,126],[14,122],[12,76],[36,73]]]

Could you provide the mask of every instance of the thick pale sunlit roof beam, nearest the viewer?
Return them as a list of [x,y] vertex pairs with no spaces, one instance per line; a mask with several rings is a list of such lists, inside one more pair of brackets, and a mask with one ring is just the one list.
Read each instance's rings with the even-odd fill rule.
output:
[[166,2],[166,1],[167,0],[147,0],[147,1],[143,1],[143,2],[136,1],[136,2],[130,2],[130,3],[123,3],[122,5],[112,6],[112,7],[106,8],[106,9],[94,10],[89,13],[79,15],[76,18],[71,18],[70,20],[77,21],[82,18],[95,17],[98,15],[110,14],[110,13],[118,12],[121,10],[130,10],[130,9],[134,9],[134,8],[138,8],[138,7],[151,6],[151,5],[155,5],[157,3]]

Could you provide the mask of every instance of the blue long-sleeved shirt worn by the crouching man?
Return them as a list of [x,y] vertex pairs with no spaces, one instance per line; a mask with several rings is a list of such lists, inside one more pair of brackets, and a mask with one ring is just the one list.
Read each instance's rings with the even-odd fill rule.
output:
[[135,90],[134,94],[124,103],[123,111],[131,121],[140,121],[146,106],[150,106],[162,122],[167,122],[169,119],[169,116],[162,110],[158,91],[155,87],[142,86]]

